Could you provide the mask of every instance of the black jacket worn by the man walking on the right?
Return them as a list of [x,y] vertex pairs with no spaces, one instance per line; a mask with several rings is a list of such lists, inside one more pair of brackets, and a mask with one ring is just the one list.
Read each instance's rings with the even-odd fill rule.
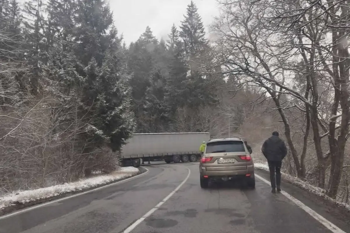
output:
[[282,161],[287,155],[287,147],[278,136],[272,136],[264,142],[261,152],[268,161]]

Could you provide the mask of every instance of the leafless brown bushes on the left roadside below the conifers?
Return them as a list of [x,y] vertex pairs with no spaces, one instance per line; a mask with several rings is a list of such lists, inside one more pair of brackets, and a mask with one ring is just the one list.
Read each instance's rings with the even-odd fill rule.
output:
[[0,106],[0,192],[45,187],[116,169],[116,153],[107,146],[94,146],[95,117],[81,105],[78,93],[64,104],[46,93],[39,100],[27,96],[18,107]]

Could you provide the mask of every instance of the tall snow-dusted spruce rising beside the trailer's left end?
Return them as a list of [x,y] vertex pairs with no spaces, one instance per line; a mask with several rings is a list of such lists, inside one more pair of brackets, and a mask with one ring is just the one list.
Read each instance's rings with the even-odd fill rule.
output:
[[[90,60],[81,72],[86,79],[84,103],[96,110],[93,126],[109,138],[115,151],[130,137],[134,127],[121,38],[105,1],[80,1],[77,15],[84,15],[75,20],[79,25],[76,27],[78,58],[83,65]],[[96,131],[95,135],[100,134]]]

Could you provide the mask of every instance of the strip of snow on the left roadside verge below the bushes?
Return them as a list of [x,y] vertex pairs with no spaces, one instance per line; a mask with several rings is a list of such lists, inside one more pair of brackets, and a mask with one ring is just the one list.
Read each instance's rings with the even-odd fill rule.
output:
[[0,210],[6,206],[15,205],[17,202],[26,203],[38,199],[58,196],[67,192],[93,188],[101,184],[136,175],[138,172],[139,169],[135,167],[121,167],[119,170],[108,175],[98,175],[77,182],[58,184],[47,188],[13,192],[9,195],[0,196]]

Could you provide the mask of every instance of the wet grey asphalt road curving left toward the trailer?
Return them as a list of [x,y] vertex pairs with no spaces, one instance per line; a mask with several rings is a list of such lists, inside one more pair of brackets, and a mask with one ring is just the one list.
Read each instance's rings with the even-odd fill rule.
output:
[[[331,232],[282,194],[272,194],[259,179],[255,190],[216,185],[203,190],[198,163],[145,167],[149,172],[134,179],[0,218],[0,233],[121,233],[135,221],[139,224],[132,233]],[[256,173],[267,178],[263,172]],[[350,232],[346,216],[293,185],[282,188],[343,232]],[[144,221],[138,220],[145,214]]]

